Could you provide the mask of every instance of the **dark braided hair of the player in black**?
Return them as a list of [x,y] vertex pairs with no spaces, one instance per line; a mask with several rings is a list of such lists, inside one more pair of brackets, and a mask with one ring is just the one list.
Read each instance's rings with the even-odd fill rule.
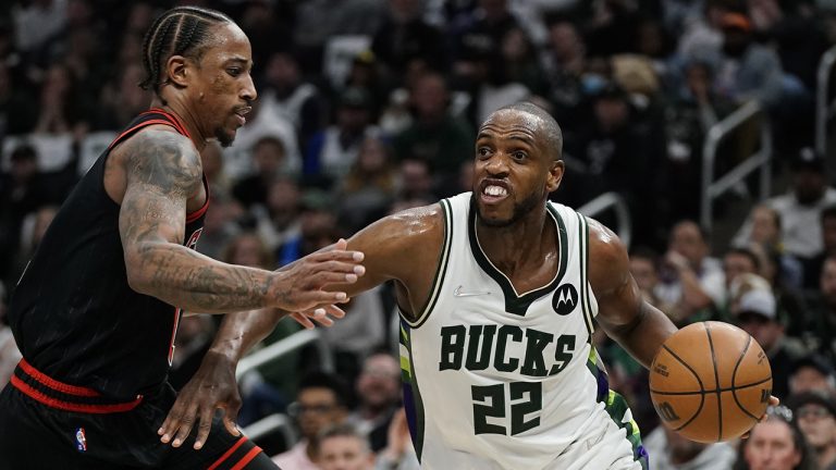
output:
[[148,28],[143,41],[143,89],[159,94],[163,64],[172,55],[200,60],[208,42],[209,26],[232,23],[225,14],[199,7],[177,7],[161,14]]

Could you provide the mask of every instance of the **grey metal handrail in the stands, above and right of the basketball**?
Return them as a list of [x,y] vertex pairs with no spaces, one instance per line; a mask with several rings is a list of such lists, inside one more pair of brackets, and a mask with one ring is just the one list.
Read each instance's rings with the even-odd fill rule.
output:
[[[717,181],[714,178],[714,162],[717,158],[717,148],[733,131],[737,129],[748,120],[761,114],[763,123],[760,126],[761,148],[749,156],[737,166],[721,176]],[[765,199],[770,194],[770,161],[772,159],[772,138],[770,137],[770,125],[766,121],[766,114],[760,104],[755,101],[749,101],[741,106],[735,112],[726,116],[723,121],[714,124],[709,129],[705,137],[705,145],[702,148],[702,190],[700,203],[700,223],[706,231],[712,225],[712,206],[714,199],[723,195],[729,188],[741,182],[750,173],[761,170],[761,199]]]

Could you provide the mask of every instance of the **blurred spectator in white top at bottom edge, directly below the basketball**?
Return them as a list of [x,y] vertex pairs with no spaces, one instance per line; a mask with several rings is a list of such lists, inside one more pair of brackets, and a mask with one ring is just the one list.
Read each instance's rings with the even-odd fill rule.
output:
[[653,470],[730,470],[737,458],[728,443],[689,441],[664,425],[641,440]]

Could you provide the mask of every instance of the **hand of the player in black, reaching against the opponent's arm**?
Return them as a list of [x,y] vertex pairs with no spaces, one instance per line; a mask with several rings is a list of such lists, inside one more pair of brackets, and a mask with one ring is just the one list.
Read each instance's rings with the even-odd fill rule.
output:
[[340,239],[282,268],[279,271],[281,277],[272,283],[271,306],[302,312],[347,301],[346,293],[323,288],[328,285],[355,283],[366,272],[360,264],[364,255],[346,251],[346,245],[344,239]]

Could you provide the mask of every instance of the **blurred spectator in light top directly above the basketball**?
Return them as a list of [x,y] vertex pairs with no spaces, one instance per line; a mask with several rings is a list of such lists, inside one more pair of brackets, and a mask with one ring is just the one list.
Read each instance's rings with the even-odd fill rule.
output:
[[655,294],[672,306],[666,313],[675,323],[710,318],[725,299],[723,269],[709,256],[705,234],[696,222],[679,222],[671,230]]

